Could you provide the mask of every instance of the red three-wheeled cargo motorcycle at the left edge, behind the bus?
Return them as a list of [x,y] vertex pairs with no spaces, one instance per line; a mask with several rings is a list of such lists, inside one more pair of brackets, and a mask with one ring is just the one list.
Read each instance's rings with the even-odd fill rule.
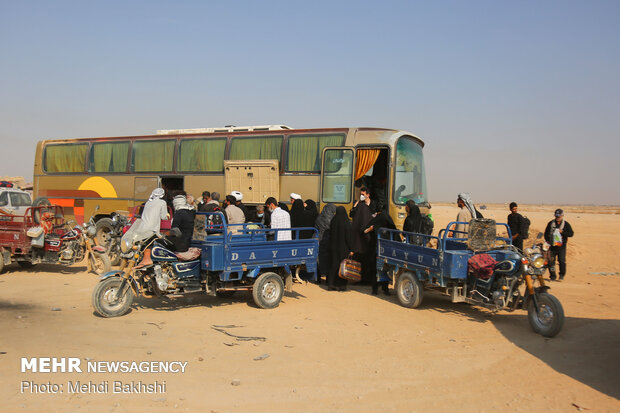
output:
[[84,225],[70,224],[59,206],[30,207],[23,216],[0,212],[0,272],[11,262],[29,268],[40,263],[72,265],[84,258],[89,271],[110,271],[105,248],[92,241],[92,218]]

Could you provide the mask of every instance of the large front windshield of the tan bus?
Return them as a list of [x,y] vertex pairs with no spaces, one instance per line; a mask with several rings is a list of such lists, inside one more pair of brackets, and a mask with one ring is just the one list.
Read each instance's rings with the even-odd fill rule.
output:
[[418,205],[428,201],[422,147],[409,136],[401,137],[396,144],[393,194],[394,203],[399,205],[409,199]]

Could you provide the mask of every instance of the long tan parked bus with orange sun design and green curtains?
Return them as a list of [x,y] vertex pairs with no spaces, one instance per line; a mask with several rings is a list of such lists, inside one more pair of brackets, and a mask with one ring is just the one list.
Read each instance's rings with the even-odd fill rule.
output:
[[83,222],[131,211],[151,191],[232,190],[248,205],[291,192],[350,209],[367,186],[397,225],[405,202],[428,206],[422,148],[415,135],[381,128],[292,129],[283,125],[158,131],[155,135],[43,140],[34,163],[34,198]]

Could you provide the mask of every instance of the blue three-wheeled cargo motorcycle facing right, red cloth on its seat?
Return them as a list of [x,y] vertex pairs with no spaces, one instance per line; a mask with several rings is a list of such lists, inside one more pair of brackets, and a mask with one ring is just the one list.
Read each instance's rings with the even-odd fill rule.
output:
[[[451,222],[438,236],[385,230],[378,239],[377,270],[382,280],[395,279],[398,301],[415,308],[424,290],[435,290],[493,312],[527,310],[532,330],[545,337],[564,325],[560,301],[549,294],[540,246],[520,251],[511,245],[510,228],[493,220],[472,220],[469,231]],[[496,227],[507,236],[496,236]],[[542,234],[539,234],[539,238]],[[486,268],[474,264],[484,262]],[[523,288],[522,288],[523,286]]]

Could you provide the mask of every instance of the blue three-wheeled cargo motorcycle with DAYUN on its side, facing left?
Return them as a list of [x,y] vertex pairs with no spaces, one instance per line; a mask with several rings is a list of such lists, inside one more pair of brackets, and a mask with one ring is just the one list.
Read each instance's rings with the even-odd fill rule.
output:
[[[220,215],[217,222],[222,224],[209,224],[213,221],[208,219],[210,215]],[[313,230],[314,236],[270,240],[279,231],[291,231],[299,238],[304,230]],[[228,225],[221,212],[197,212],[189,251],[173,251],[172,237],[179,235],[177,228],[168,235],[127,231],[121,240],[127,265],[104,274],[95,287],[92,302],[96,313],[102,317],[124,315],[134,296],[176,298],[206,293],[230,297],[237,291],[252,291],[258,307],[275,308],[284,291],[292,291],[294,273],[298,277],[303,269],[316,279],[318,235],[314,228]],[[145,265],[147,251],[152,263]]]

